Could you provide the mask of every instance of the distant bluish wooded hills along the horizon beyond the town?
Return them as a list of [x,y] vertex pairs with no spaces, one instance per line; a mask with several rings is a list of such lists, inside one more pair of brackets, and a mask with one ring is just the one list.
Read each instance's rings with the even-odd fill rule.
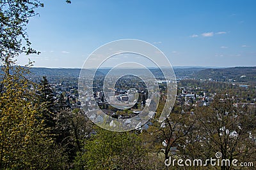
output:
[[[110,69],[100,69],[97,71],[98,75],[107,74]],[[161,76],[159,69],[151,69],[155,76]],[[49,78],[55,77],[72,77],[78,78],[81,69],[65,69],[65,68],[44,68],[33,67],[31,72],[34,76],[47,76]],[[93,73],[93,71],[91,71]],[[217,81],[256,81],[256,67],[228,67],[228,68],[205,68],[205,67],[174,67],[174,72],[177,78],[195,78],[204,80],[217,80]],[[90,71],[88,71],[90,73]],[[125,71],[127,72],[127,69]]]

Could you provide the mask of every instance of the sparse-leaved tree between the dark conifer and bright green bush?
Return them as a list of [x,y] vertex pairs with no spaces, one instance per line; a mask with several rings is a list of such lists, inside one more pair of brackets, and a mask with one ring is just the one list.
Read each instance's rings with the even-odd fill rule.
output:
[[72,163],[76,153],[83,148],[83,141],[86,142],[92,132],[92,122],[81,110],[61,110],[56,115],[56,143],[68,154],[68,162]]

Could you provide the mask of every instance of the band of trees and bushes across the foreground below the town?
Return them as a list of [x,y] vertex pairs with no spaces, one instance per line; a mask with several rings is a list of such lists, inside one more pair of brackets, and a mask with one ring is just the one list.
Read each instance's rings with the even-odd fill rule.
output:
[[236,106],[225,96],[193,108],[193,114],[175,104],[159,123],[161,101],[148,128],[111,132],[93,125],[83,111],[70,110],[63,97],[54,98],[47,78],[36,85],[22,76],[24,68],[6,70],[1,75],[0,169],[178,169],[164,166],[164,160],[206,160],[216,152],[223,159],[256,160],[255,108]]

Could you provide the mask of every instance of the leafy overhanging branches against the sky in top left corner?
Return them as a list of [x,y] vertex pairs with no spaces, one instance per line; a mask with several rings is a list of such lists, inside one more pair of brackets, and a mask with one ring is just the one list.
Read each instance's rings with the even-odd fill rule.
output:
[[29,18],[36,15],[35,9],[44,6],[39,1],[3,0],[0,2],[0,55],[1,60],[19,53],[36,53],[26,34]]

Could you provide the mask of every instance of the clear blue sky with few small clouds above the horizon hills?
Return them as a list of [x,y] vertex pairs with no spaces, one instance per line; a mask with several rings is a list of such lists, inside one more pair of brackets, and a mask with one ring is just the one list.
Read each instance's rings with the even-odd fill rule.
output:
[[[256,66],[256,1],[45,1],[28,34],[35,67],[82,67],[117,39],[157,46],[172,66]],[[21,55],[19,63],[28,62]]]

